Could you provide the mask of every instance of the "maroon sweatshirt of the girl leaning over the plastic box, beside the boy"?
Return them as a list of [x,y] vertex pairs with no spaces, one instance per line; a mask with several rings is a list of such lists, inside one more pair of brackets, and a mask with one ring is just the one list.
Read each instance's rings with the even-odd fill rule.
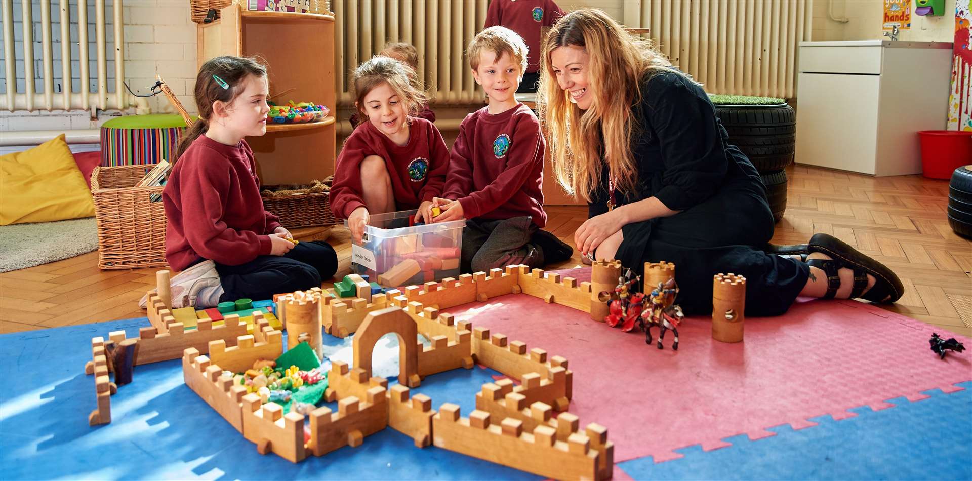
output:
[[361,163],[368,155],[385,159],[392,178],[392,190],[399,211],[417,209],[442,191],[449,169],[449,151],[442,134],[429,120],[409,117],[408,143],[399,146],[365,121],[344,141],[334,166],[334,183],[330,188],[330,210],[334,217],[347,219],[355,209],[364,206],[362,192],[373,186],[362,186]]

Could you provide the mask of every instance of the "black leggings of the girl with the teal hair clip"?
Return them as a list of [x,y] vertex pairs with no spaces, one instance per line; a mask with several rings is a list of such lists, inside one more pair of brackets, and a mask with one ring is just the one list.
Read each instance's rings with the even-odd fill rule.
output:
[[321,287],[337,272],[337,255],[324,241],[301,242],[284,256],[260,256],[240,265],[216,263],[223,295],[220,302],[263,300],[275,293]]

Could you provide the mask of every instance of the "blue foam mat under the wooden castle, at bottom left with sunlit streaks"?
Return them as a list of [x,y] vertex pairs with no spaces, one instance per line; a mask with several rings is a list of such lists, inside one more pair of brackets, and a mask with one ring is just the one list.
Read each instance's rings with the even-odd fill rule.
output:
[[[0,401],[3,479],[539,479],[434,446],[416,448],[394,429],[298,464],[260,456],[184,384],[180,360],[137,366],[132,384],[112,396],[111,424],[89,427],[90,338],[121,329],[135,336],[139,326],[148,321],[0,335],[0,362],[14,368]],[[432,397],[434,409],[453,402],[469,414],[495,374],[456,369],[429,376],[414,392]]]

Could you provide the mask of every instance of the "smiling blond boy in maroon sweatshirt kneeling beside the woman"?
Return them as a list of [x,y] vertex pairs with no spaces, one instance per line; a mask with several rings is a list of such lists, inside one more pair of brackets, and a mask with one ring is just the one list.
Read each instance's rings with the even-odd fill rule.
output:
[[546,223],[545,142],[537,117],[513,97],[526,62],[527,46],[508,28],[487,28],[469,44],[472,76],[489,104],[460,124],[445,189],[434,200],[443,209],[434,222],[467,218],[463,272],[543,264],[531,239]]

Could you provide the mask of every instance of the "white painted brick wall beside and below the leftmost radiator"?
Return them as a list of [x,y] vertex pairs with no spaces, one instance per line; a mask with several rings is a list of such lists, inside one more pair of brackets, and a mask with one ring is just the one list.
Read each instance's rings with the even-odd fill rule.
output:
[[[110,13],[109,13],[110,15]],[[188,0],[126,0],[124,18],[125,80],[132,89],[147,92],[156,73],[190,113],[195,113],[192,89],[196,74],[196,29]],[[93,52],[92,52],[93,54]],[[151,97],[153,113],[174,114],[164,95]],[[0,113],[2,130],[67,130],[97,128],[119,113],[13,112]]]

